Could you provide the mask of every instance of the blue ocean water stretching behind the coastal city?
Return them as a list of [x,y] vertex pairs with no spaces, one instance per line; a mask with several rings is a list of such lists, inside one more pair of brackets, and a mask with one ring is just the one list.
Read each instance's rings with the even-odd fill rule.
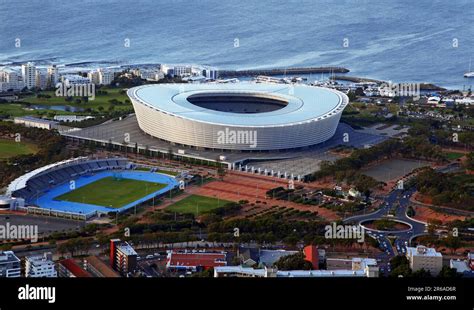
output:
[[0,0],[0,64],[342,66],[463,88],[471,58],[472,0]]

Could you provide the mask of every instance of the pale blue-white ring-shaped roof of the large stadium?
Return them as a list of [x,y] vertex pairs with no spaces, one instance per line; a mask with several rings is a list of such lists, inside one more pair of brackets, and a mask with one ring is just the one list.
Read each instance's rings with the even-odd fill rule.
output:
[[[187,100],[191,95],[272,96],[287,102],[281,109],[264,113],[233,113],[205,109]],[[347,103],[344,94],[301,84],[153,84],[129,90],[141,103],[177,117],[218,125],[278,126],[326,118]]]

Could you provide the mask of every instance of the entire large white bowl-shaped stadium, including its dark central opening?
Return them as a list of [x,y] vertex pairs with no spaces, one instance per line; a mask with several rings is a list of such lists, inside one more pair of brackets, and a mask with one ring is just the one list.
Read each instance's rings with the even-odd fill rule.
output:
[[336,132],[348,97],[299,84],[153,84],[128,90],[145,133],[197,149],[287,150]]

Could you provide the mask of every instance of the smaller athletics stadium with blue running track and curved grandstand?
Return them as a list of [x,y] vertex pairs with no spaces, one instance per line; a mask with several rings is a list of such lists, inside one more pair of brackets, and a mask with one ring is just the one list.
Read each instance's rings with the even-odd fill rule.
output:
[[123,212],[165,195],[178,180],[156,168],[137,169],[125,158],[74,158],[33,170],[7,189],[28,213],[86,220]]

